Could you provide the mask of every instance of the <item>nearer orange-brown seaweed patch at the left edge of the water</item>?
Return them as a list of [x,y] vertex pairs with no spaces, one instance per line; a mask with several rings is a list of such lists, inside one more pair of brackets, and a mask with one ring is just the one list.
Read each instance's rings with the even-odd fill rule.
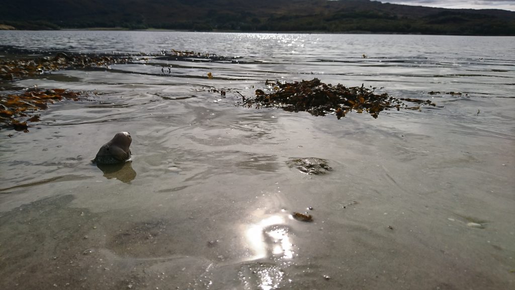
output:
[[[79,100],[80,93],[64,89],[29,90],[22,94],[0,94],[0,126],[12,127],[16,131],[28,132],[27,122],[38,122],[36,111],[48,108],[48,104],[68,100]],[[23,121],[22,121],[23,120]]]

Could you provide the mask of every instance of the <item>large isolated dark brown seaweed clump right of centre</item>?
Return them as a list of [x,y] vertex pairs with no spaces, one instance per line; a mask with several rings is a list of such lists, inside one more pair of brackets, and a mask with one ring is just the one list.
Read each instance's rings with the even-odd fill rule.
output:
[[[302,82],[280,83],[266,81],[273,92],[255,91],[255,98],[245,99],[248,107],[279,107],[286,111],[307,111],[314,116],[335,114],[338,119],[345,117],[350,111],[368,112],[377,118],[379,112],[389,109],[420,110],[423,105],[435,106],[431,101],[408,98],[393,98],[387,93],[375,94],[374,88],[345,87],[338,84],[324,84],[320,79],[302,80]],[[417,105],[406,105],[403,101]]]

